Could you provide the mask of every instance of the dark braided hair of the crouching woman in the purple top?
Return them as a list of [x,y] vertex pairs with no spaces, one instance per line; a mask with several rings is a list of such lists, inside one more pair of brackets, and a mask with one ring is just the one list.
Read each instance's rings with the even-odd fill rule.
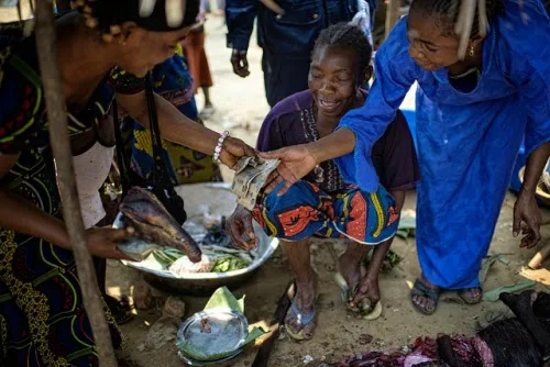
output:
[[353,51],[358,57],[358,73],[363,73],[371,64],[373,48],[365,33],[356,25],[342,22],[322,30],[311,54],[327,46]]

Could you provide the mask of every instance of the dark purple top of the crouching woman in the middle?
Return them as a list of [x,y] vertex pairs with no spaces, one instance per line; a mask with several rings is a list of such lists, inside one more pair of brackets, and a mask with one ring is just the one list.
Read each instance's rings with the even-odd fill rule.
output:
[[[366,97],[366,91],[363,91]],[[319,138],[314,114],[314,97],[309,90],[293,94],[277,103],[262,124],[256,148],[261,152],[306,144]],[[415,187],[420,179],[416,151],[407,121],[400,111],[372,151],[381,184],[388,190]],[[316,167],[305,180],[326,192],[343,189],[345,184],[333,160]]]

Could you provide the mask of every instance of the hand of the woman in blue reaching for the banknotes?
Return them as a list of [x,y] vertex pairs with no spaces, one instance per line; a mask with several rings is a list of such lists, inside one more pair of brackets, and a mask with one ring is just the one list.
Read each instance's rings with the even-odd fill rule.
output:
[[268,153],[258,153],[264,159],[279,159],[280,164],[266,180],[265,192],[273,191],[286,181],[277,196],[283,196],[297,180],[309,174],[319,164],[307,144],[284,147]]

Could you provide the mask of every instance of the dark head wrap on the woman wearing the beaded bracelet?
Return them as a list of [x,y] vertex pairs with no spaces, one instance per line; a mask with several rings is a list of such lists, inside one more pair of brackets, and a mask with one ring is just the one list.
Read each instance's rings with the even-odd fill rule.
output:
[[152,32],[180,30],[195,23],[199,13],[200,0],[186,0],[184,21],[179,27],[167,24],[165,1],[157,0],[150,16],[140,16],[138,0],[72,0],[72,7],[84,14],[88,27],[98,30],[103,40],[110,41],[122,32],[122,24],[134,22],[138,26]]

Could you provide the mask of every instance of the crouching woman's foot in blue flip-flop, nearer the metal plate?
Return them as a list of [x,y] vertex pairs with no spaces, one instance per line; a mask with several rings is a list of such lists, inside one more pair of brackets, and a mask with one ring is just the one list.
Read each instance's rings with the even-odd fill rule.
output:
[[293,305],[286,314],[286,331],[290,337],[297,341],[310,340],[317,327],[316,288],[315,281],[297,283]]

